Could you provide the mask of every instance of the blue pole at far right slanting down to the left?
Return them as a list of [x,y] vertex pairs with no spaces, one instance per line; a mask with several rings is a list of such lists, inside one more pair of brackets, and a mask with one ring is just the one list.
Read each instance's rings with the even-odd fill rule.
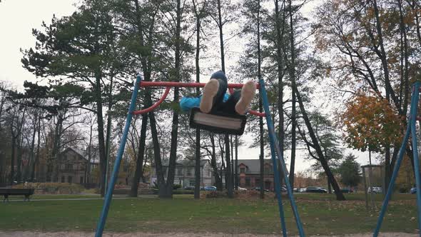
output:
[[[387,188],[385,200],[383,201],[382,209],[380,210],[380,215],[379,215],[379,218],[377,219],[377,226],[375,228],[374,233],[372,234],[373,237],[377,237],[379,235],[380,227],[382,226],[383,218],[385,217],[385,213],[386,213],[386,210],[387,210],[387,205],[389,204],[390,196],[392,196],[393,188],[395,187],[395,180],[396,180],[396,177],[397,177],[397,173],[399,172],[400,163],[402,163],[403,155],[405,154],[405,148],[407,146],[407,141],[410,138],[411,126],[412,126],[412,124],[415,124],[415,117],[417,116],[418,88],[419,88],[419,85],[417,86],[417,84],[415,84],[412,87],[412,89],[413,90],[415,89],[415,91],[412,94],[412,98],[411,98],[410,119],[409,119],[408,124],[407,124],[407,131],[405,132],[405,137],[403,138],[402,146],[400,146],[400,149],[399,149],[399,155],[398,155],[398,158],[397,158],[397,161],[396,161],[396,164],[395,164],[395,168],[393,169],[392,178],[390,178],[390,183],[389,183],[389,186]],[[416,134],[415,134],[415,136],[416,136]],[[414,133],[412,133],[412,137],[414,137]],[[419,202],[418,199],[417,199],[417,202]],[[420,212],[418,212],[418,213],[420,214]],[[418,219],[420,220],[420,218],[418,218]]]

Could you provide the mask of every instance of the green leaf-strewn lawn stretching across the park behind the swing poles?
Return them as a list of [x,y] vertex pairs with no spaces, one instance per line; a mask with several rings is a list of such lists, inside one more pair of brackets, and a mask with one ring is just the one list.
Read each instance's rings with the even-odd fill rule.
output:
[[[375,227],[378,213],[367,212],[364,201],[332,201],[328,194],[318,193],[295,197],[308,234],[366,233]],[[347,197],[360,198],[358,194]],[[409,197],[414,198],[402,196]],[[382,231],[414,233],[415,200],[397,198],[390,203]],[[101,206],[101,200],[0,203],[0,230],[93,231]],[[297,233],[289,202],[284,201],[284,208],[289,233]],[[116,199],[106,231],[280,233],[278,215],[273,198],[194,200],[191,195],[180,195],[173,199]]]

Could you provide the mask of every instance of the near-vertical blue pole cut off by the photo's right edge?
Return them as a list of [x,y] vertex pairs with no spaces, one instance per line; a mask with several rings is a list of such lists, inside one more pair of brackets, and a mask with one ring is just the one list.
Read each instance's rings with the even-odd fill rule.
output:
[[[418,229],[421,228],[421,178],[420,178],[420,161],[418,160],[418,148],[417,148],[417,108],[418,108],[418,101],[420,99],[419,92],[420,92],[420,83],[417,82],[414,84],[413,87],[413,100],[414,100],[414,107],[412,108],[411,104],[411,134],[412,134],[412,153],[414,158],[414,169],[415,169],[415,183],[417,186],[417,208],[418,208]],[[421,236],[421,233],[420,233]]]

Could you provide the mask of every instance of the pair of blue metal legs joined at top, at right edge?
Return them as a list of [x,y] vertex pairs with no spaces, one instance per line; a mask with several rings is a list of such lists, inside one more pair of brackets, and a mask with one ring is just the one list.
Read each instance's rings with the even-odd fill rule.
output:
[[[412,153],[414,158],[414,169],[415,169],[415,183],[417,187],[417,209],[418,209],[418,229],[421,228],[421,179],[420,179],[420,161],[418,160],[418,148],[417,148],[417,121],[421,121],[420,117],[417,117],[417,107],[418,101],[420,100],[420,89],[421,82],[416,82],[412,85],[412,97],[411,97],[411,107],[410,107],[410,117],[407,123],[407,130],[405,132],[405,137],[402,141],[402,146],[400,146],[398,158],[393,168],[392,178],[390,178],[389,187],[387,188],[387,193],[385,200],[382,204],[382,210],[380,211],[380,216],[377,219],[377,226],[373,233],[373,237],[377,237],[380,232],[380,227],[382,226],[383,218],[385,217],[385,212],[387,205],[389,204],[390,196],[392,196],[393,188],[395,187],[395,181],[397,173],[400,168],[400,163],[402,163],[403,155],[405,153],[405,148],[411,136],[412,138]],[[421,231],[420,231],[421,237]]]

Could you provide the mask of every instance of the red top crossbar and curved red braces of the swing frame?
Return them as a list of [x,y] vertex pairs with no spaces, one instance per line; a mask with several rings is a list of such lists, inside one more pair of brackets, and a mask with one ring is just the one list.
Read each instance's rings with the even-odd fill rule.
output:
[[[166,99],[166,97],[168,96],[168,93],[170,92],[171,87],[203,87],[205,85],[206,83],[197,83],[197,82],[186,83],[186,82],[172,82],[172,81],[141,81],[141,84],[140,84],[141,87],[165,86],[166,91],[164,92],[162,98],[159,101],[157,101],[155,104],[153,104],[153,106],[146,109],[133,111],[133,114],[136,114],[136,115],[145,114],[156,109],[156,107],[158,107]],[[228,88],[229,88],[230,94],[233,94],[233,88],[238,88],[238,89],[243,88],[243,84],[228,84]],[[259,89],[258,84],[256,84],[256,88]],[[260,117],[266,116],[265,113],[259,113],[258,111],[248,111],[248,113],[253,114],[255,116],[260,116]]]

